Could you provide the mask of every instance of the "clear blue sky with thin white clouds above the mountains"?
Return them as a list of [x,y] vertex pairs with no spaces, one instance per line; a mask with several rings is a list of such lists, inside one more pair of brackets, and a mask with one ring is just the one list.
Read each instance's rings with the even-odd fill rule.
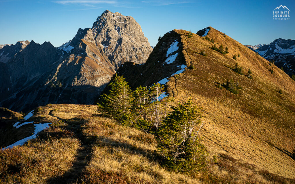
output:
[[[288,7],[290,20],[273,20],[273,10],[280,5]],[[207,26],[245,45],[295,39],[295,1],[291,0],[0,0],[0,44],[33,39],[58,47],[79,28],[92,27],[106,9],[132,16],[152,46],[159,35],[173,29],[196,33]]]

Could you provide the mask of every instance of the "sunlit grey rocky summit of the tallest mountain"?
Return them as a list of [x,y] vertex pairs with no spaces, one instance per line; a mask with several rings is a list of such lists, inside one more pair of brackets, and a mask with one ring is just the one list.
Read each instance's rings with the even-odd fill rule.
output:
[[132,16],[106,10],[91,29],[95,42],[103,47],[116,69],[126,61],[144,63],[153,50]]

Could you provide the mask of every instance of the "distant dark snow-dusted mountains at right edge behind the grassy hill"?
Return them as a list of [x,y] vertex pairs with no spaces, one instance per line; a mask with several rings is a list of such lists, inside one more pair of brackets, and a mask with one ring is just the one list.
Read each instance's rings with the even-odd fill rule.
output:
[[279,68],[283,67],[286,74],[290,76],[295,74],[295,40],[279,38],[257,49],[246,46],[268,61],[274,60],[275,65]]

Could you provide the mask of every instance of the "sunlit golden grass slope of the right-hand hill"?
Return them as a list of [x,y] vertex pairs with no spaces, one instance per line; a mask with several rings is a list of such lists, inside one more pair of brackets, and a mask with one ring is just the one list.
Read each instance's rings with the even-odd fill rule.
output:
[[[253,163],[289,178],[295,175],[295,82],[283,71],[256,55],[244,45],[210,27],[208,37],[216,46],[229,48],[221,54],[214,44],[196,34],[188,38],[185,30],[174,30],[181,36],[182,53],[187,69],[179,78],[170,77],[166,84],[176,101],[192,97],[203,107],[204,129],[201,135],[211,153],[227,152],[230,156]],[[202,50],[207,57],[199,54]],[[234,55],[240,54],[237,60]],[[253,79],[232,70],[235,63]],[[220,89],[227,79],[239,81],[242,90],[234,95]],[[283,91],[278,93],[279,89]]]

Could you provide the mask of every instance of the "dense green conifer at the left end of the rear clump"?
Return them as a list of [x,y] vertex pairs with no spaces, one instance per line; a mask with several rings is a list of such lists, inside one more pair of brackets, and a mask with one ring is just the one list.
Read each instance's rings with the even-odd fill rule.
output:
[[98,112],[115,120],[128,119],[134,99],[128,82],[116,74],[109,86],[109,94],[103,94],[97,104]]

